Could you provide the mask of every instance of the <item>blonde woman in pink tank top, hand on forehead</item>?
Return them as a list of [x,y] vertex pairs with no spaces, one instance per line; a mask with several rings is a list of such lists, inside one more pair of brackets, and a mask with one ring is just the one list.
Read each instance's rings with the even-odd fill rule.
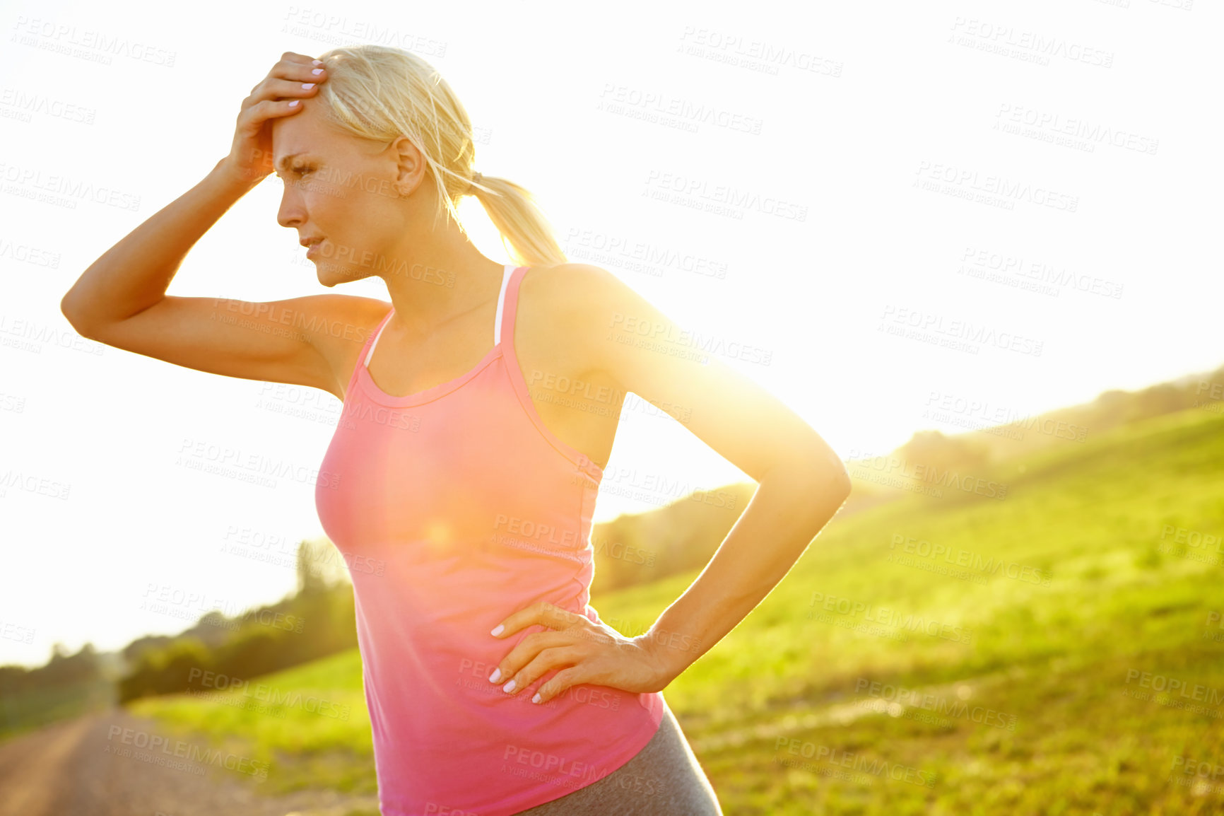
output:
[[[846,472],[750,380],[668,353],[683,350],[678,330],[611,273],[567,263],[526,191],[475,173],[474,149],[466,111],[419,56],[286,53],[242,103],[229,154],[86,270],[61,309],[110,346],[343,401],[316,502],[350,564],[383,814],[718,814],[661,691],[789,570],[847,496]],[[165,293],[272,172],[278,222],[310,246],[319,283],[378,276],[389,306]],[[463,195],[520,265],[472,246],[454,218]],[[760,483],[700,578],[638,637],[588,603],[627,390],[684,410]]]

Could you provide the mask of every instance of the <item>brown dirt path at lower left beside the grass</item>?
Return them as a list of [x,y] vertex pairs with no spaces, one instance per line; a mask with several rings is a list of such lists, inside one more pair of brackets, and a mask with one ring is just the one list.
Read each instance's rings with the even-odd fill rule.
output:
[[0,742],[0,816],[378,814],[373,796],[263,795],[240,761],[111,708]]

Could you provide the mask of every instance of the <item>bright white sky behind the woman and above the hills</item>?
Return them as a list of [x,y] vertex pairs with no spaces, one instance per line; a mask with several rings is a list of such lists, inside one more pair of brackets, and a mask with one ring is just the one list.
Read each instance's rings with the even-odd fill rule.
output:
[[[572,261],[759,349],[722,359],[849,458],[960,431],[923,417],[933,399],[1027,415],[1220,364],[1220,11],[1190,4],[5,2],[0,663],[202,611],[149,597],[280,598],[321,534],[334,397],[100,347],[59,311],[229,152],[283,51],[428,59],[480,132],[477,169],[534,191]],[[324,292],[279,197],[266,179],[241,200],[170,294]],[[388,299],[377,278],[343,290]],[[629,399],[596,521],[677,497],[660,479],[747,478]],[[302,475],[193,469],[196,445]]]

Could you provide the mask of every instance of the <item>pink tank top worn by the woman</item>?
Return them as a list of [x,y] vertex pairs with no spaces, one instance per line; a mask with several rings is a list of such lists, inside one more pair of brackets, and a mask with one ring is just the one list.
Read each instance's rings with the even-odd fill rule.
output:
[[590,533],[603,470],[550,431],[514,353],[528,267],[507,265],[494,346],[474,369],[395,397],[349,380],[315,504],[345,555],[383,816],[508,816],[628,762],[659,729],[661,692],[572,687],[514,695],[488,675],[531,632],[496,638],[540,600],[597,622]]

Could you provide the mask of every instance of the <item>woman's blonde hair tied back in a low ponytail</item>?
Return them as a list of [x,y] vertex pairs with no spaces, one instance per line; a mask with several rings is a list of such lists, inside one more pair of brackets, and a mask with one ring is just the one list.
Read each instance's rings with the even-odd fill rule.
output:
[[459,223],[455,205],[461,196],[474,195],[517,263],[568,262],[552,225],[525,187],[488,174],[481,174],[479,184],[472,181],[476,143],[471,120],[437,69],[411,51],[388,45],[333,48],[318,59],[327,69],[319,94],[334,126],[383,142],[406,136],[425,157],[448,218]]

